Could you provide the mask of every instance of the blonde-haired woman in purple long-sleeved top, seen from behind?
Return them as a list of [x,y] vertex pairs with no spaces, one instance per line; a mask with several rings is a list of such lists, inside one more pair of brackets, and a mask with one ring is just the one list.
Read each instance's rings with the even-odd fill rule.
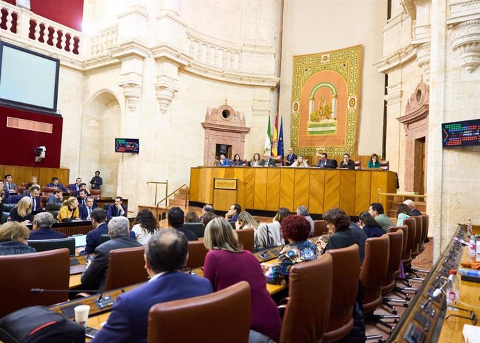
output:
[[241,248],[237,234],[225,218],[217,217],[208,223],[203,243],[209,250],[203,276],[211,281],[215,291],[247,281],[252,292],[250,328],[278,342],[282,322],[277,305],[266,290],[266,279],[257,258]]

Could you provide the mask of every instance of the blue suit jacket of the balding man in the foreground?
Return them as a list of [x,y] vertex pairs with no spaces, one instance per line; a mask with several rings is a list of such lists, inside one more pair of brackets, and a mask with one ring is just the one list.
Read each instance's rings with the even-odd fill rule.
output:
[[163,274],[120,294],[108,321],[92,342],[147,342],[148,311],[152,305],[202,296],[213,291],[206,278],[179,271]]

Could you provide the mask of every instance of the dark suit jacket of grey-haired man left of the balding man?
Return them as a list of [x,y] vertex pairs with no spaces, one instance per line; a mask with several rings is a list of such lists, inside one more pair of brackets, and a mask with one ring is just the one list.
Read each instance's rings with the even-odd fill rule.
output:
[[109,271],[109,253],[111,250],[120,248],[134,248],[142,246],[136,239],[130,237],[120,237],[110,239],[104,244],[100,244],[95,249],[90,266],[81,274],[81,285],[83,289],[105,289],[106,274]]

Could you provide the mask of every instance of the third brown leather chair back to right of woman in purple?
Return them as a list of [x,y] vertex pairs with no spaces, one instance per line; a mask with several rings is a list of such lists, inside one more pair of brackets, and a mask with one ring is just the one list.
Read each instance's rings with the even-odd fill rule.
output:
[[360,281],[363,283],[363,312],[373,312],[382,303],[382,284],[387,275],[389,248],[386,234],[365,241],[365,259],[360,271]]

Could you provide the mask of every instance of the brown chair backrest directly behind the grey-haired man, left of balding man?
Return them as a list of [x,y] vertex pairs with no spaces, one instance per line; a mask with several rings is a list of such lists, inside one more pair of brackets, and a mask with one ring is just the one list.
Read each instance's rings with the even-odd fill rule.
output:
[[111,250],[105,291],[147,281],[148,273],[145,270],[144,253],[145,246]]

